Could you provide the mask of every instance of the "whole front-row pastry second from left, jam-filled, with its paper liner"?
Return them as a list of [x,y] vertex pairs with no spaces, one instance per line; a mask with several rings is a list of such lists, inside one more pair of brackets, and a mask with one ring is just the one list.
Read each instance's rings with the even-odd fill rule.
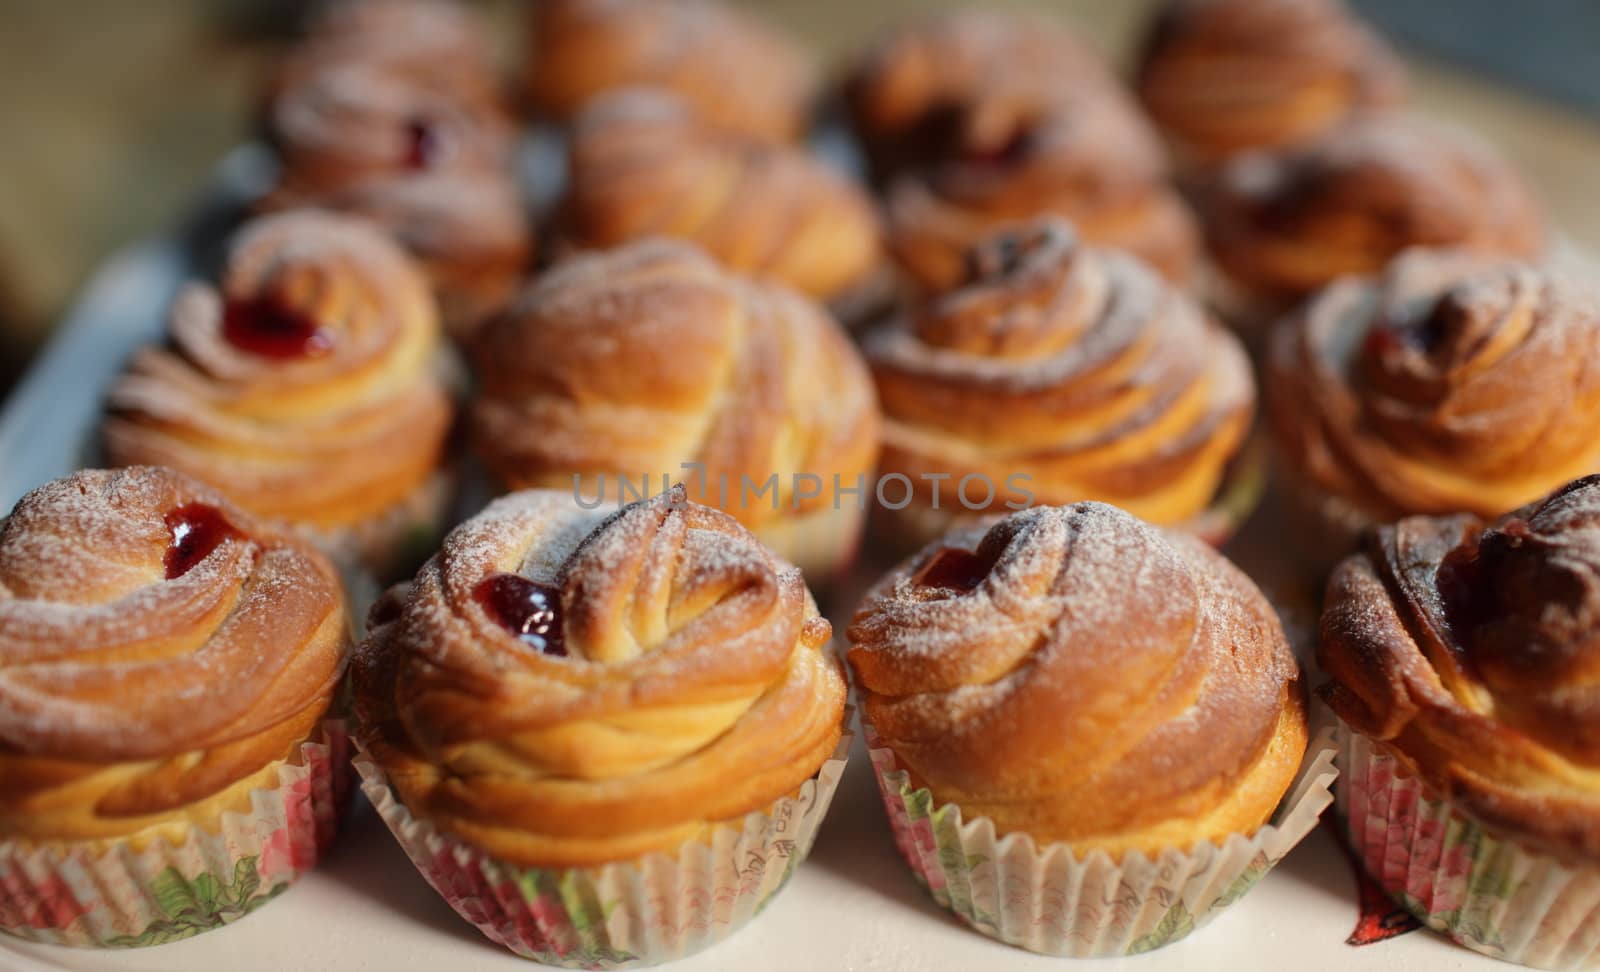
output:
[[[563,966],[680,958],[810,849],[843,766],[829,635],[800,571],[682,486],[621,510],[502,497],[373,612],[366,791],[435,887],[522,876],[458,906],[496,942]],[[619,913],[590,922],[602,898]]]

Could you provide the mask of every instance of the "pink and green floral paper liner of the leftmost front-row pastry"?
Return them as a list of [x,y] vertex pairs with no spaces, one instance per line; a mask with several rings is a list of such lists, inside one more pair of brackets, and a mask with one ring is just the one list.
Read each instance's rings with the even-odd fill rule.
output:
[[198,935],[266,905],[333,841],[350,791],[349,737],[323,726],[301,766],[182,839],[0,841],[0,930],[32,942],[130,948]]

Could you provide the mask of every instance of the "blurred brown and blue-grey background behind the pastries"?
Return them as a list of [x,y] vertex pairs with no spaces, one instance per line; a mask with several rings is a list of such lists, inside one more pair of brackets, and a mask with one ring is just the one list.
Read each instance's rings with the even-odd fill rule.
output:
[[[478,0],[507,66],[530,0]],[[744,0],[837,62],[960,0]],[[968,3],[979,0],[966,0]],[[1352,0],[1403,50],[1414,107],[1480,129],[1600,249],[1600,0]],[[1126,59],[1154,0],[1013,0]],[[251,136],[299,0],[0,0],[0,396],[94,265],[171,225]]]

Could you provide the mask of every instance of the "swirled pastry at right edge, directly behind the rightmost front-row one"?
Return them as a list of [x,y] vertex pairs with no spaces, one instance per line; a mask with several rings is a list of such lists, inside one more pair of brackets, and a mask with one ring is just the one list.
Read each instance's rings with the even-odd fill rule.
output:
[[1498,516],[1600,470],[1600,301],[1534,265],[1418,251],[1272,337],[1272,432],[1373,520]]

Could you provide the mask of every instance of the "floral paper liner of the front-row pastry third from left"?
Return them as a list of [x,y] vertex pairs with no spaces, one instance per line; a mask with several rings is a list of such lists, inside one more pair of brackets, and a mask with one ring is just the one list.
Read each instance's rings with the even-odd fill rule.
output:
[[1155,860],[1125,854],[1118,863],[1104,850],[1078,858],[1067,844],[1000,836],[987,817],[963,820],[958,806],[936,806],[931,791],[914,790],[870,727],[867,747],[894,844],[928,894],[990,938],[1072,958],[1152,951],[1211,921],[1317,827],[1336,775],[1333,742],[1322,734],[1272,822],[1254,835]]

